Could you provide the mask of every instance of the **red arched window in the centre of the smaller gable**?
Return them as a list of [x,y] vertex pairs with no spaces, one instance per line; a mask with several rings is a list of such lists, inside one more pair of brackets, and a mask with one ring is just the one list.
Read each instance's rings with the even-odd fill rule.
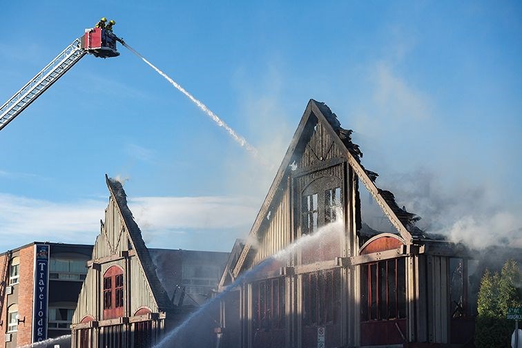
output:
[[123,316],[124,276],[123,269],[110,267],[104,273],[104,319]]

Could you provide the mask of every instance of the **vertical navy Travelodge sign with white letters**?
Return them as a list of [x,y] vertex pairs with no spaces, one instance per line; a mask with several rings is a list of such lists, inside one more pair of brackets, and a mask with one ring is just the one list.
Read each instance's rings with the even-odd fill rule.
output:
[[32,301],[32,342],[47,339],[49,246],[35,244],[35,288]]

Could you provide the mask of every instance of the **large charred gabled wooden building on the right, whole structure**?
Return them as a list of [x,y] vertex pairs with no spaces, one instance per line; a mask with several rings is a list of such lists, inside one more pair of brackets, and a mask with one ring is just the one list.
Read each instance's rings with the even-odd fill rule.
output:
[[[220,282],[220,347],[425,347],[472,340],[476,263],[376,186],[310,100],[249,238]],[[365,197],[374,211],[365,216]],[[368,211],[371,211],[369,209]]]

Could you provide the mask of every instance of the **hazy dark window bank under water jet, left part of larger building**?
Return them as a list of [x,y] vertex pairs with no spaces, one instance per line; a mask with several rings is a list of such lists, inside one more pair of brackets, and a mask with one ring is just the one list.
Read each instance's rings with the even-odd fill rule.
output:
[[255,282],[253,290],[253,329],[284,329],[285,311],[284,278]]

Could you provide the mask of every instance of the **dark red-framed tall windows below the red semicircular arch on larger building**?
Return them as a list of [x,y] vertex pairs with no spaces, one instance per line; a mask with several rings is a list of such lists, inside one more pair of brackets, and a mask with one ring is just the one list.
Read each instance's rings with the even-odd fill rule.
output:
[[361,266],[361,321],[406,318],[405,259]]

